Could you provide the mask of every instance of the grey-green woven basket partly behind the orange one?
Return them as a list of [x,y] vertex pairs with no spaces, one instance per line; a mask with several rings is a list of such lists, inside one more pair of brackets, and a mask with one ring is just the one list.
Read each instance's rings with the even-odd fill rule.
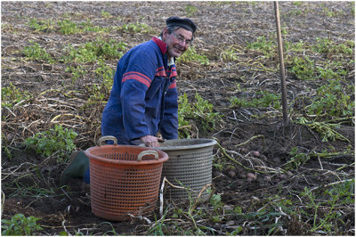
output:
[[[164,196],[174,200],[198,197],[199,192],[212,183],[213,148],[212,139],[175,139],[160,143],[158,150],[165,151],[169,159],[163,164],[162,177],[179,189],[166,185]],[[206,199],[207,192],[200,198]]]

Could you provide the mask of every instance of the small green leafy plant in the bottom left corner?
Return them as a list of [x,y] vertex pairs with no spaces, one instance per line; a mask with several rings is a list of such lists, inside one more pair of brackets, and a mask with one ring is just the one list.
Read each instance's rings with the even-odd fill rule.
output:
[[41,218],[25,217],[23,214],[16,214],[11,220],[2,219],[2,235],[33,235],[43,228],[36,224]]

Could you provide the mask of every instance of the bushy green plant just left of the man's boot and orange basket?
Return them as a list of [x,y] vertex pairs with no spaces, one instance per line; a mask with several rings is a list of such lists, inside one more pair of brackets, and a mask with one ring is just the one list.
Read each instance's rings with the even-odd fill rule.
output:
[[[77,133],[72,129],[55,124],[54,128],[49,131],[36,133],[33,137],[26,138],[25,144],[29,149],[34,149],[45,157],[52,155],[55,151],[60,151],[59,155],[62,158],[76,148],[74,144],[76,137]],[[59,161],[61,161],[61,158]]]

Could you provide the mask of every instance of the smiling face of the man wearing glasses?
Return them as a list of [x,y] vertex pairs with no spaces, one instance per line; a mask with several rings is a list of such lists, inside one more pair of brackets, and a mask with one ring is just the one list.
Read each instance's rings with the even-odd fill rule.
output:
[[191,31],[187,29],[176,29],[171,34],[167,29],[164,29],[163,41],[168,45],[168,57],[181,56],[189,48],[192,36]]

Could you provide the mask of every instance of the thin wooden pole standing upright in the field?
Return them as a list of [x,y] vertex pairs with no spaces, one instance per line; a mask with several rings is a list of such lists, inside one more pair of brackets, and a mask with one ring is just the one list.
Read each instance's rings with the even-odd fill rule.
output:
[[278,2],[274,2],[274,11],[276,12],[276,25],[277,25],[277,38],[279,46],[279,70],[280,70],[280,85],[282,91],[282,108],[283,108],[283,121],[284,125],[288,124],[288,115],[287,115],[287,86],[286,86],[286,76],[284,70],[284,61],[283,61],[283,45],[282,45],[282,36],[280,34],[280,23],[279,23],[279,7]]

